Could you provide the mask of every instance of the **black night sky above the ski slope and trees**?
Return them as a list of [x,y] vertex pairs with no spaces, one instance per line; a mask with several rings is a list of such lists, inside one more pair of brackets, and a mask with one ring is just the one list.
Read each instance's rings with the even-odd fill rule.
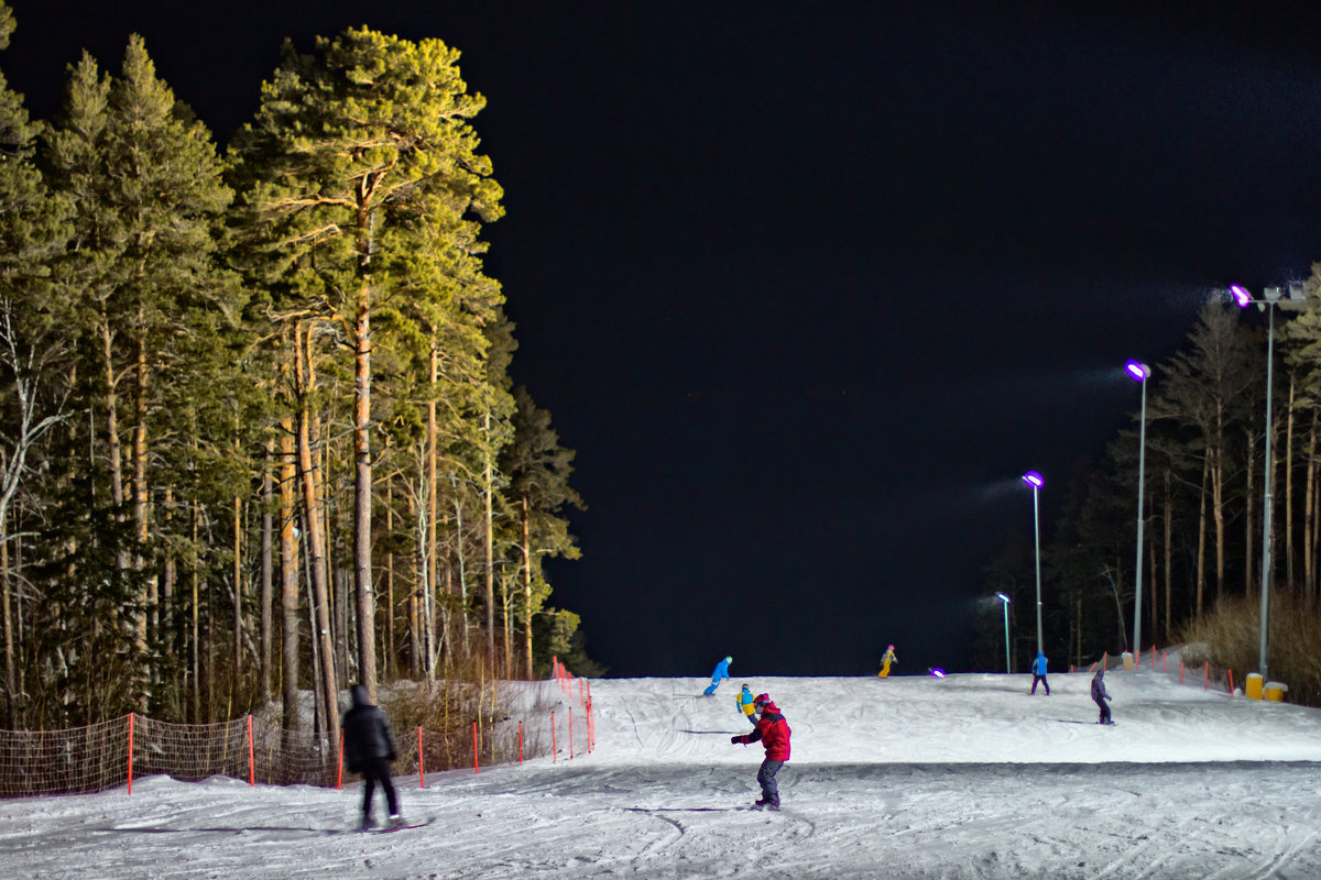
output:
[[462,50],[515,379],[590,505],[553,603],[617,676],[966,668],[1017,476],[1098,453],[1211,289],[1321,259],[1308,5],[11,5],[34,115],[139,32],[222,144],[285,36]]

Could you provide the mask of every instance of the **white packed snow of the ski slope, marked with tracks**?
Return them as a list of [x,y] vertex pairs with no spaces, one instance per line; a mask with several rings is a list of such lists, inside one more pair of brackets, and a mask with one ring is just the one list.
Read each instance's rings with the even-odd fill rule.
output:
[[[783,810],[733,706],[793,727]],[[133,793],[0,801],[5,877],[1317,877],[1321,711],[1090,676],[593,682],[597,747],[400,778],[432,823],[357,834],[359,785],[153,777]],[[379,797],[379,796],[378,796]],[[378,810],[380,807],[378,806]]]

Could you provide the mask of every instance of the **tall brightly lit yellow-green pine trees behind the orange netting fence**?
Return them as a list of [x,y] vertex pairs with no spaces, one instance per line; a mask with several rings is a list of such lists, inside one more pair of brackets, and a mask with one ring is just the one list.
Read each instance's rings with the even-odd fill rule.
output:
[[326,731],[350,682],[575,650],[573,453],[509,376],[457,59],[285,46],[223,152],[137,37],[50,121],[0,80],[4,726],[293,726],[301,686]]

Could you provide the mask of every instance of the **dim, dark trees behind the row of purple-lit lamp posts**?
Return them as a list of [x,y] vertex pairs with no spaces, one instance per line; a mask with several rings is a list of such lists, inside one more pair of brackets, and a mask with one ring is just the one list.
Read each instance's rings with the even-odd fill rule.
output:
[[[1256,305],[1239,309],[1227,292],[1213,294],[1188,343],[1169,360],[1151,364],[1141,509],[1143,648],[1188,637],[1217,610],[1259,607],[1267,443],[1273,499],[1271,595],[1295,599],[1283,613],[1321,611],[1321,264],[1313,267],[1310,278],[1293,285],[1293,298],[1288,289],[1275,294],[1281,296],[1273,307],[1269,435],[1269,315]],[[1264,292],[1256,296],[1267,298]],[[1061,660],[1085,664],[1106,650],[1132,648],[1137,393],[1133,402],[1132,426],[1119,431],[1099,460],[1055,482],[1063,501],[1058,516],[1042,520],[1044,629],[1046,653],[1057,666]],[[1030,530],[1018,532],[985,573],[987,590],[1012,599],[1016,669],[1026,669],[1036,653],[1033,554]],[[995,608],[979,620],[976,664],[983,669],[1004,665],[1003,620],[999,604]],[[1259,627],[1260,616],[1255,620]],[[1213,650],[1238,656],[1246,648]],[[1273,645],[1271,657],[1275,649],[1299,648]],[[1268,665],[1279,668],[1275,660]]]

